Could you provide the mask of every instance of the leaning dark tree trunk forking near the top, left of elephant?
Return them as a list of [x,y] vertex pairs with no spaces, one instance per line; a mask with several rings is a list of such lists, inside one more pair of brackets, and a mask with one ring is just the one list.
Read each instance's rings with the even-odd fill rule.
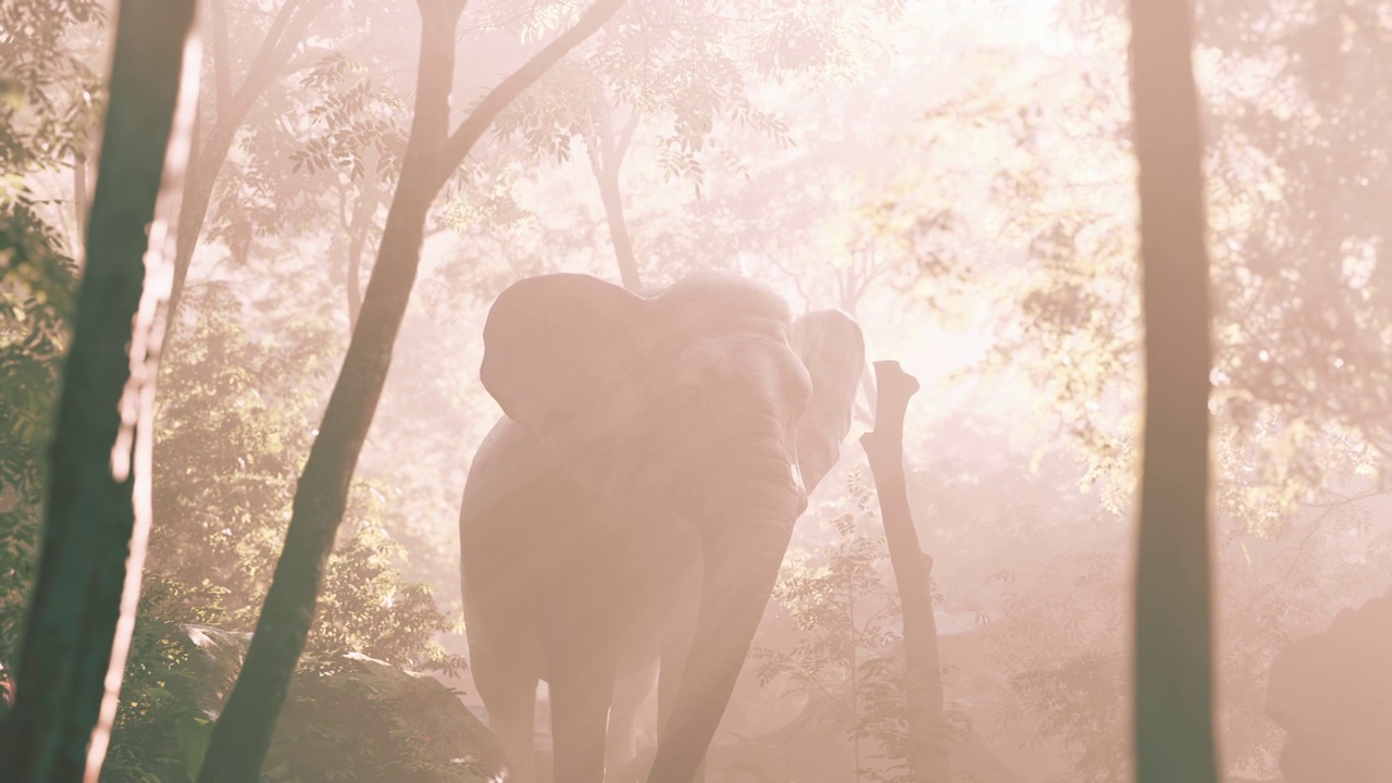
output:
[[567,52],[597,32],[624,0],[597,0],[571,29],[494,88],[448,135],[454,31],[464,3],[418,0],[420,70],[411,135],[362,311],[301,474],[285,546],[199,772],[199,783],[256,783],[276,719],[305,649],[329,555],[342,521],[358,456],[391,366],[411,300],[425,220],[436,195],[498,113]]

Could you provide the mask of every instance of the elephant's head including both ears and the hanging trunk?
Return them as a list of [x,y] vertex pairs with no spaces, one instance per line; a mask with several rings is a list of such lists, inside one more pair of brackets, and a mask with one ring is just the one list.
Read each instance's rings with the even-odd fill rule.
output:
[[837,461],[864,366],[845,313],[793,319],[768,287],[688,277],[640,297],[582,274],[507,288],[480,376],[574,482],[657,497],[700,531],[702,602],[653,779],[695,775],[807,492]]

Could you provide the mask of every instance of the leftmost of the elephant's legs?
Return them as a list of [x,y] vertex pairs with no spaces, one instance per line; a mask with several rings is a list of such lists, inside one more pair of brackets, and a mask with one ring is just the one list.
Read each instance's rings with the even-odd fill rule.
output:
[[479,698],[489,711],[489,729],[512,769],[508,782],[537,783],[536,676],[519,672],[505,655],[490,655],[483,649],[469,663]]

